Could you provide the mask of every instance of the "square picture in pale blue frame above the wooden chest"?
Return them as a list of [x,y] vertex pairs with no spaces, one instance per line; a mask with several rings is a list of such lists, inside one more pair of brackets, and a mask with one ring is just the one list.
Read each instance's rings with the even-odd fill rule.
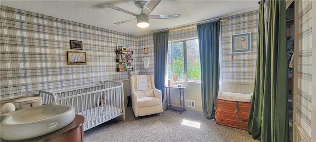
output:
[[232,53],[251,52],[251,33],[232,35]]

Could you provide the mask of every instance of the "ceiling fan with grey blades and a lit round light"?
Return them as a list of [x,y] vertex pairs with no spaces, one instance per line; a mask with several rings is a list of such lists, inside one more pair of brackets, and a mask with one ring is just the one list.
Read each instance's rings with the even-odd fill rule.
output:
[[136,14],[134,12],[130,12],[128,10],[119,8],[119,7],[114,6],[114,5],[111,5],[109,3],[104,3],[103,6],[112,8],[114,10],[118,10],[120,12],[129,14],[129,15],[133,15],[133,16],[136,17],[136,18],[133,18],[133,19],[117,22],[117,23],[114,23],[114,24],[119,25],[119,24],[127,23],[127,22],[130,22],[130,21],[136,19],[138,27],[146,28],[146,27],[149,26],[149,19],[171,19],[171,18],[179,18],[180,17],[180,14],[150,15],[160,1],[161,0],[151,0],[150,2],[145,1],[145,0],[138,0],[138,1],[136,1],[135,5],[142,9],[140,14]]

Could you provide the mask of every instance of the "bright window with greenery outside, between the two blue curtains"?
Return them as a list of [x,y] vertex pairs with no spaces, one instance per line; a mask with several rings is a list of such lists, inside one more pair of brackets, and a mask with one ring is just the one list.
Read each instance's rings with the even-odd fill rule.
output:
[[169,42],[168,79],[172,80],[172,75],[178,74],[182,81],[200,81],[200,67],[198,39]]

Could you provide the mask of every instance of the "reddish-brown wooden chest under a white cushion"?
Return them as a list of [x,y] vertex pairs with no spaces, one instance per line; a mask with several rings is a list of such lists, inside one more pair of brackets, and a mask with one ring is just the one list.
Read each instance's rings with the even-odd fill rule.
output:
[[217,99],[216,123],[248,130],[250,102],[235,102]]

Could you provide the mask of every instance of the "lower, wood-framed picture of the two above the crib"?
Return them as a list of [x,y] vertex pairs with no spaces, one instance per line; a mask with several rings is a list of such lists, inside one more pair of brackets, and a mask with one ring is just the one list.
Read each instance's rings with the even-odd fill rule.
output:
[[85,52],[67,51],[68,65],[86,65],[87,56]]

